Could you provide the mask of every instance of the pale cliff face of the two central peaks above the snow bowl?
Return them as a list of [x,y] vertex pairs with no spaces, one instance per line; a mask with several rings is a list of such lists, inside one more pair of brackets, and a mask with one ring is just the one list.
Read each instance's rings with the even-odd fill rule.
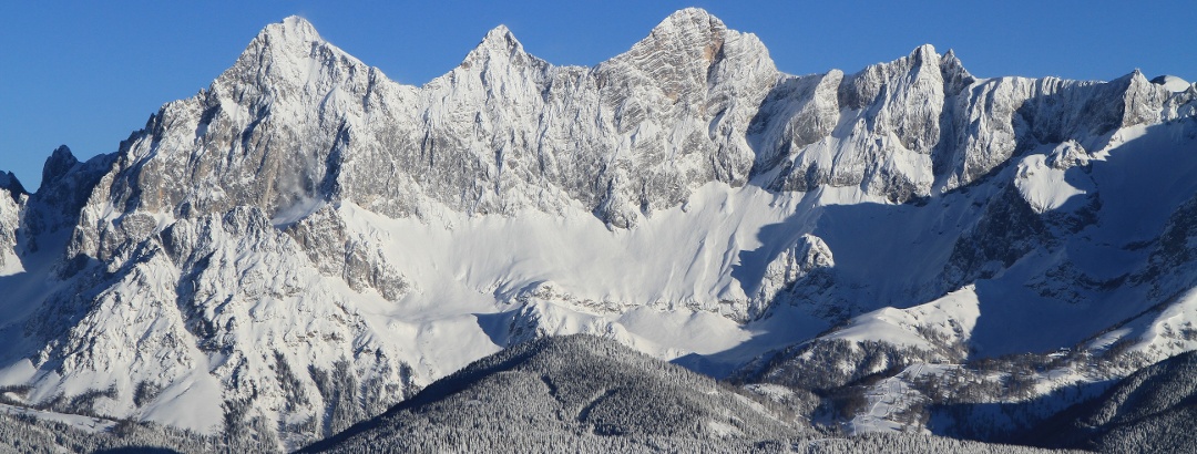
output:
[[746,183],[743,129],[777,75],[755,37],[699,10],[595,68],[553,67],[500,26],[420,88],[413,118],[385,122],[397,141],[351,139],[340,183],[388,216],[581,204],[626,228],[707,182]]

